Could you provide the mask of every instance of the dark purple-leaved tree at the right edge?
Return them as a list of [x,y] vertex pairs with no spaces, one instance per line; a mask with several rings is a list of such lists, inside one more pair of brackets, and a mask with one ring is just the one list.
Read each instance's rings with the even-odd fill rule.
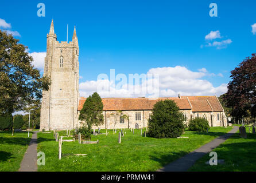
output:
[[256,56],[252,54],[231,71],[232,81],[223,101],[232,108],[231,115],[242,118],[256,116]]

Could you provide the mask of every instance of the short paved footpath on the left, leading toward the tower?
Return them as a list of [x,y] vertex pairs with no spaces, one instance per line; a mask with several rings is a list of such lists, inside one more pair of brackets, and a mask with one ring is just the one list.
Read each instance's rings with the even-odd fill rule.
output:
[[37,132],[33,132],[30,144],[21,162],[19,172],[37,172]]

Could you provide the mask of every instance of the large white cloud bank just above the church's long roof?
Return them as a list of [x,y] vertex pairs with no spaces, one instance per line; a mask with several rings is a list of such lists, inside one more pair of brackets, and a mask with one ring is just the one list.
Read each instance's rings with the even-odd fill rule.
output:
[[[226,93],[226,83],[214,87],[211,82],[202,79],[209,74],[205,71],[207,70],[203,68],[200,72],[195,72],[182,66],[158,67],[150,69],[147,73],[148,76],[150,74],[158,75],[158,87],[149,85],[156,78],[147,78],[139,85],[133,85],[133,89],[136,91],[158,91],[158,95],[156,95],[156,92],[147,94],[133,92],[134,90],[129,90],[131,85],[126,83],[117,88],[116,86],[120,81],[115,81],[115,85],[113,85],[113,82],[109,79],[82,82],[79,85],[79,91],[82,97],[88,97],[94,92],[98,92],[100,97],[177,97],[179,93],[183,96],[214,96],[215,94],[220,96]],[[98,90],[99,86],[104,89]]]

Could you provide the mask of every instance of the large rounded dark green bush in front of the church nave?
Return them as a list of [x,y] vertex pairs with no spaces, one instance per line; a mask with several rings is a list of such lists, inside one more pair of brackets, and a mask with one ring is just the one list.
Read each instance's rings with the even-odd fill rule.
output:
[[174,101],[159,101],[149,119],[148,135],[154,138],[180,137],[184,132],[183,121],[183,114]]

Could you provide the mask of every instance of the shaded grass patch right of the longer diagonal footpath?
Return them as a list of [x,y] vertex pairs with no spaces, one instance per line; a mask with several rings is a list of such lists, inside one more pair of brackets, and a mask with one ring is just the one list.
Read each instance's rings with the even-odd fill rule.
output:
[[[251,128],[252,132],[252,128]],[[218,160],[224,160],[224,164],[217,166],[206,165],[211,157],[209,154],[200,158],[189,171],[226,171],[226,172],[249,172],[256,171],[256,134],[249,133],[246,125],[247,138],[240,138],[239,133],[229,138],[218,148],[212,150],[218,154]]]

